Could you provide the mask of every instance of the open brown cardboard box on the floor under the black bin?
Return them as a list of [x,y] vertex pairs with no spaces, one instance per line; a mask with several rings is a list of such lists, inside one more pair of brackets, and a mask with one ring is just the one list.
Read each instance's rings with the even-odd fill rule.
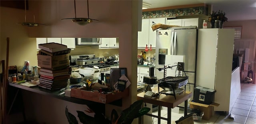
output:
[[212,102],[212,104],[201,104],[197,102],[188,102],[190,104],[190,108],[199,109],[201,112],[204,112],[204,116],[202,119],[210,120],[213,113],[213,107],[218,107],[220,104]]

